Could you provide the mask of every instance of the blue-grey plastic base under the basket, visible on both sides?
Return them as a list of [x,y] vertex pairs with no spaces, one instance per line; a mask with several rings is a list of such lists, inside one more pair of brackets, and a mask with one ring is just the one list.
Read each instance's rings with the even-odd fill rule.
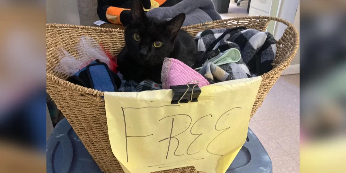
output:
[[[249,129],[244,146],[226,173],[272,173],[272,161]],[[102,173],[66,119],[54,128],[47,142],[47,173]]]

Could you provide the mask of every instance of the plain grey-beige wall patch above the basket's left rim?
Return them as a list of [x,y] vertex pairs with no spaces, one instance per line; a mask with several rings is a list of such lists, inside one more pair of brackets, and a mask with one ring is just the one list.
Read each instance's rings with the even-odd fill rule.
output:
[[47,23],[80,25],[77,0],[47,0]]

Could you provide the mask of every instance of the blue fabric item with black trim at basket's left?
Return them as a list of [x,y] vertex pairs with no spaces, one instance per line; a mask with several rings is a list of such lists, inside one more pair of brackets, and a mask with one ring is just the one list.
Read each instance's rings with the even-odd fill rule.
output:
[[99,91],[118,91],[121,80],[117,74],[109,70],[106,63],[99,60],[91,62],[67,81]]

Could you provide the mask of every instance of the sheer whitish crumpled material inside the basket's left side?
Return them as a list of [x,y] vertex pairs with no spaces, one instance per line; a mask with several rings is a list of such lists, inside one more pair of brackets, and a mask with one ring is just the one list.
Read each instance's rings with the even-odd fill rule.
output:
[[106,63],[109,69],[112,69],[112,63],[110,63],[109,57],[93,38],[81,36],[79,44],[76,45],[76,49],[79,54],[78,59],[61,48],[59,52],[60,62],[55,67],[54,71],[73,76],[95,60]]

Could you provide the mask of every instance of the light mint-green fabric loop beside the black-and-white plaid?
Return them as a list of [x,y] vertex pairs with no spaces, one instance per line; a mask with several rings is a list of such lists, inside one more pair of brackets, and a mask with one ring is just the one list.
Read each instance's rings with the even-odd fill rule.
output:
[[[231,48],[225,52],[219,53],[219,55],[211,58],[210,60],[207,60],[204,64],[211,62],[219,66],[222,64],[236,63],[240,60],[241,57],[242,55],[240,54],[238,49]],[[198,67],[194,70],[200,70],[200,69],[202,69],[202,67]]]

